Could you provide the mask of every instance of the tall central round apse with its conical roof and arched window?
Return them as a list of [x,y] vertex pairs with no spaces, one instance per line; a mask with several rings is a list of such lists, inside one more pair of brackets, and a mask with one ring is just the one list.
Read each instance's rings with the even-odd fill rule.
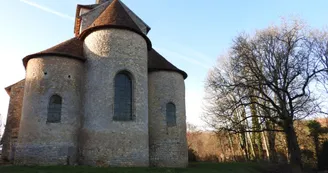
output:
[[148,166],[149,39],[119,0],[79,37],[87,58],[81,162]]

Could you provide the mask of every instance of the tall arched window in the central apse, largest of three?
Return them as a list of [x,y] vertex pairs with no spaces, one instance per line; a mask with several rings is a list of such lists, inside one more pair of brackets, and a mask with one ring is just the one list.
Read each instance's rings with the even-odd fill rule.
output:
[[127,72],[115,76],[114,120],[132,120],[132,80]]

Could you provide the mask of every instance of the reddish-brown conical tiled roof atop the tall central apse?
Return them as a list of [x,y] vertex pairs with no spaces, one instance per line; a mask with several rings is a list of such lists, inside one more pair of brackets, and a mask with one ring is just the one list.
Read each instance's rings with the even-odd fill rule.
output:
[[148,44],[148,48],[151,48],[150,40],[145,34],[142,33],[140,28],[126,12],[119,0],[114,0],[98,16],[98,18],[91,24],[91,26],[80,34],[80,38],[84,39],[91,32],[102,28],[119,28],[136,32],[145,38]]

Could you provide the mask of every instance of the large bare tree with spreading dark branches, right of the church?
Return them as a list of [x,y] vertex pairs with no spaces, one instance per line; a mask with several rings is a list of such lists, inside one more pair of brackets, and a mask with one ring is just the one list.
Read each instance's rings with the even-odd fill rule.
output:
[[[299,21],[272,26],[254,36],[239,35],[227,55],[229,63],[223,69],[215,67],[207,80],[207,91],[212,95],[207,122],[232,131],[254,116],[261,120],[260,124],[265,120],[274,123],[275,129],[244,130],[284,132],[293,171],[301,172],[301,152],[293,122],[318,111],[310,84],[327,73],[327,66],[321,63],[317,40]],[[254,104],[264,113],[232,118],[235,112],[245,107],[249,110]]]

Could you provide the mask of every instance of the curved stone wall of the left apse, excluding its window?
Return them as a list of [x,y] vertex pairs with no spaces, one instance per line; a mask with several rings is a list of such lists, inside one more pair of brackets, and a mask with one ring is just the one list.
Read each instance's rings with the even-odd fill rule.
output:
[[[74,164],[81,117],[83,62],[47,56],[29,60],[15,164]],[[62,98],[60,122],[47,120],[50,97]]]

